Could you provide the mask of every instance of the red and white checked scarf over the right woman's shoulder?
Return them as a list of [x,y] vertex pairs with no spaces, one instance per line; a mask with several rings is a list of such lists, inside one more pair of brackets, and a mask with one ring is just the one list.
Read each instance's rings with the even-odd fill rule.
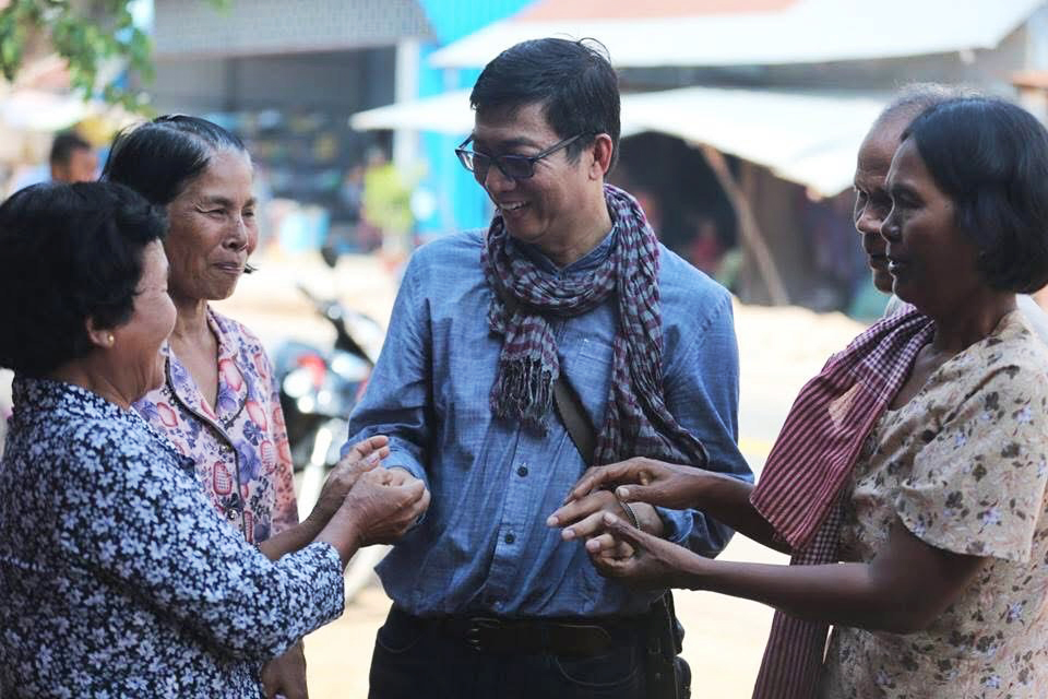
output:
[[[906,306],[832,356],[801,389],[750,497],[796,552],[791,566],[837,561],[842,490],[933,331],[930,319]],[[813,697],[827,628],[776,612],[753,698]]]

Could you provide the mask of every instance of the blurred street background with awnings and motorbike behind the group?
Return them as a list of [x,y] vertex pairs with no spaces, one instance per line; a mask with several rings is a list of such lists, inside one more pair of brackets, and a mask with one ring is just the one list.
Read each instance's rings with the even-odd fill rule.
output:
[[[285,398],[317,412],[338,371],[338,323],[372,319],[354,331],[367,358],[410,251],[487,225],[491,205],[453,152],[473,125],[468,91],[500,50],[550,35],[607,47],[622,86],[611,181],[737,297],[740,445],[755,471],[802,381],[886,301],[850,185],[892,94],[963,83],[1048,118],[1040,0],[0,0],[0,198],[76,169],[49,165],[57,135],[83,143],[70,158],[96,176],[114,133],[143,116],[189,112],[238,133],[262,202],[260,271],[222,308],[278,364],[287,355],[278,371],[308,374]],[[323,443],[317,425],[302,437],[303,474],[345,439],[324,425]],[[739,541],[725,556],[777,559]],[[389,604],[367,583],[307,639],[313,697],[366,696]],[[770,613],[679,597],[696,695],[749,696]]]

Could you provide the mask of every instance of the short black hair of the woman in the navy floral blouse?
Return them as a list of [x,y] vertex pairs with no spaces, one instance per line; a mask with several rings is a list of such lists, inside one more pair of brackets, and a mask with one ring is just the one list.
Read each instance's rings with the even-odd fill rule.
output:
[[164,211],[122,185],[27,187],[0,206],[0,366],[45,376],[126,323]]

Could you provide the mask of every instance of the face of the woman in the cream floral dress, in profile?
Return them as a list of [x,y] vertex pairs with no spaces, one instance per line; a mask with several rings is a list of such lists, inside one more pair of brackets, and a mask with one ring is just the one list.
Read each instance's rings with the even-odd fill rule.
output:
[[985,288],[978,248],[957,228],[953,200],[936,185],[913,139],[892,158],[888,191],[892,211],[881,235],[895,295],[936,317]]

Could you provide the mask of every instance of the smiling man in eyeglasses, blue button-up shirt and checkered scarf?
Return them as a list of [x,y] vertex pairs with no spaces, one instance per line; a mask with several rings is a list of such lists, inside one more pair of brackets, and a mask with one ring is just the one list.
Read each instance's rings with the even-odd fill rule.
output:
[[[389,435],[386,465],[432,493],[379,567],[394,604],[371,697],[654,697],[659,591],[603,579],[584,542],[604,512],[710,556],[731,532],[611,491],[576,501],[565,529],[550,514],[591,463],[633,455],[752,478],[736,447],[730,297],[605,183],[619,92],[594,46],[519,44],[471,102],[475,128],[456,153],[496,206],[491,225],[413,257],[350,420],[350,442]],[[592,459],[565,413],[592,425]]]

